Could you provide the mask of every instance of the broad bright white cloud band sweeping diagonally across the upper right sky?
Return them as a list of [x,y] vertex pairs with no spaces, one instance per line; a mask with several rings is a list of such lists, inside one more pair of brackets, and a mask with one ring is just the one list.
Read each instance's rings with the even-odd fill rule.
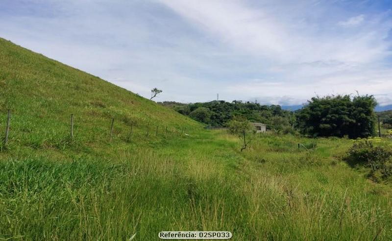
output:
[[[302,12],[283,15],[279,10],[287,8],[284,4],[274,11],[263,7],[252,9],[244,1],[161,1],[201,30],[219,37],[222,43],[282,63],[368,63],[385,57],[391,47],[383,38],[392,23],[382,19],[375,18],[363,29],[347,35],[329,28],[321,32],[312,28],[314,23],[299,21]],[[349,23],[359,23],[362,18],[354,18]]]

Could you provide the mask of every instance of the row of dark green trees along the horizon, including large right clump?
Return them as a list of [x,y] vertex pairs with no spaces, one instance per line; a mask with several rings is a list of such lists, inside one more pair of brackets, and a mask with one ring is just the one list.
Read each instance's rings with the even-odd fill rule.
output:
[[375,134],[377,122],[374,112],[377,102],[370,95],[315,96],[295,112],[283,110],[279,105],[241,100],[160,104],[210,126],[229,127],[233,121],[259,122],[276,132],[298,132],[311,137],[368,137]]

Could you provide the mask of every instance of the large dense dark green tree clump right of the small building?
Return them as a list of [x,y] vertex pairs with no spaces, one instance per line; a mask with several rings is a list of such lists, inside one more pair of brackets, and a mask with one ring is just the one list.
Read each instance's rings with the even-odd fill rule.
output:
[[313,97],[298,115],[302,132],[311,136],[362,138],[374,134],[373,96]]

